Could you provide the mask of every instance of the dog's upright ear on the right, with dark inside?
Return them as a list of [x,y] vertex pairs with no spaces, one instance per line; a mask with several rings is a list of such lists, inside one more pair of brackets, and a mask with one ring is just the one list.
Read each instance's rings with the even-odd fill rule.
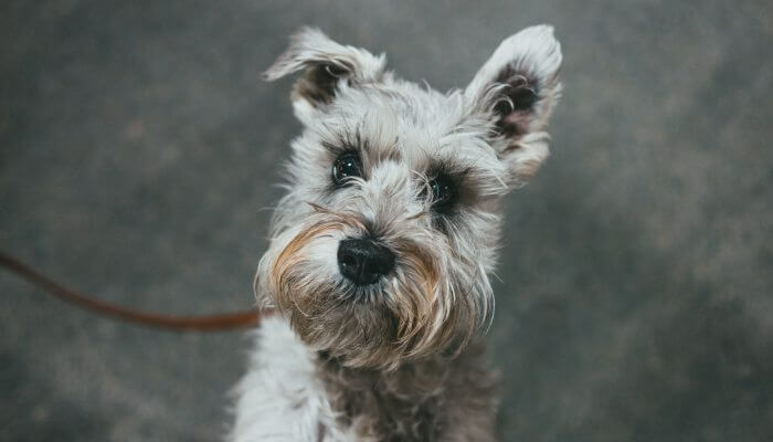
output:
[[493,126],[491,145],[522,186],[548,157],[548,119],[561,94],[561,44],[553,28],[527,28],[501,42],[465,90]]

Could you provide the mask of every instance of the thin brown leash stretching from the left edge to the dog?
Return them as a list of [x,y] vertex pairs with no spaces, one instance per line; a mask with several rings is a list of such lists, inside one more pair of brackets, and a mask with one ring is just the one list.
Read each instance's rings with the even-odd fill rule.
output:
[[170,330],[215,332],[256,327],[260,325],[262,317],[268,316],[273,313],[272,311],[258,312],[251,309],[205,316],[169,316],[157,313],[139,312],[105,301],[99,301],[93,296],[67,288],[3,252],[0,252],[0,266],[15,273],[28,282],[42,288],[46,293],[80,307],[116,319]]

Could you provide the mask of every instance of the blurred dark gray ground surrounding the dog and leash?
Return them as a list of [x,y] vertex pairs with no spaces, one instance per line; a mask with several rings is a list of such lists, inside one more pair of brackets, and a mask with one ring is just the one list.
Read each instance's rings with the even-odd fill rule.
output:
[[[438,90],[548,22],[553,155],[512,193],[504,441],[773,440],[773,3],[3,1],[0,249],[158,312],[248,307],[301,24]],[[244,333],[116,323],[0,272],[0,440],[213,441]]]

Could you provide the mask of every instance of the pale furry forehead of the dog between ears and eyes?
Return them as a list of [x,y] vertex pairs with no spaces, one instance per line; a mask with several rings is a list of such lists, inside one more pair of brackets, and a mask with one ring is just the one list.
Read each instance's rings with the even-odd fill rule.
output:
[[416,170],[444,162],[491,175],[506,170],[487,141],[489,127],[470,118],[462,93],[442,94],[394,82],[343,91],[326,116],[338,135],[356,138],[362,155]]

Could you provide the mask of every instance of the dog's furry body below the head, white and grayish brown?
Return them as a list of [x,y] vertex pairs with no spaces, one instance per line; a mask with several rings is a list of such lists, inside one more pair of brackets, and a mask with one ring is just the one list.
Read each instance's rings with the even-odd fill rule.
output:
[[320,357],[286,320],[257,334],[239,386],[234,441],[488,441],[493,377],[477,351],[395,371],[349,369]]

